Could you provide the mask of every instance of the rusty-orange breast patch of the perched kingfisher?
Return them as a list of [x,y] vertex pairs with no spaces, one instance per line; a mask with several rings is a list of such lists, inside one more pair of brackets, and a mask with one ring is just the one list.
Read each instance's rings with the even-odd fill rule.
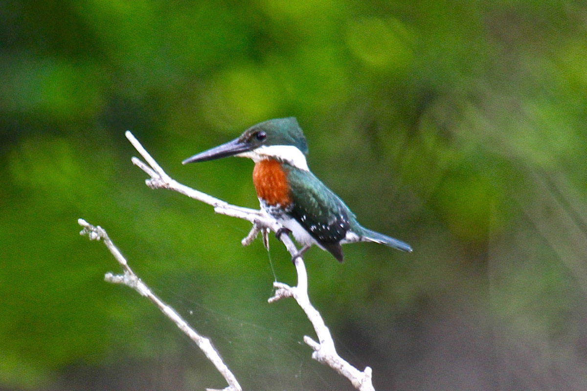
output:
[[281,205],[286,207],[291,204],[289,196],[288,179],[278,161],[269,159],[255,164],[253,170],[253,184],[258,198],[268,205]]

